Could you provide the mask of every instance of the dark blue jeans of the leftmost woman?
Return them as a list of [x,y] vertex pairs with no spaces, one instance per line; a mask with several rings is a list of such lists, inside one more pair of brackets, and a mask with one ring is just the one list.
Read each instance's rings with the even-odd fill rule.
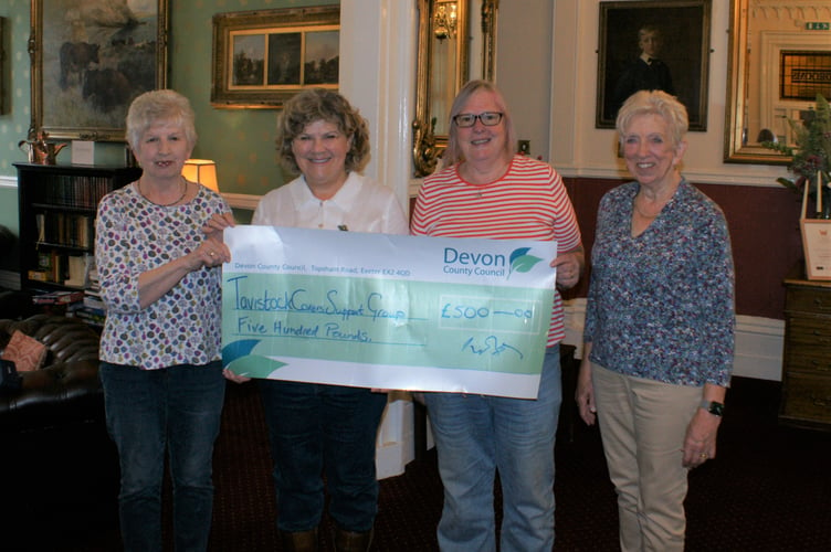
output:
[[118,448],[125,551],[160,551],[161,482],[168,449],[176,550],[204,551],[213,511],[213,442],[225,380],[219,361],[139,370],[102,362],[107,429]]

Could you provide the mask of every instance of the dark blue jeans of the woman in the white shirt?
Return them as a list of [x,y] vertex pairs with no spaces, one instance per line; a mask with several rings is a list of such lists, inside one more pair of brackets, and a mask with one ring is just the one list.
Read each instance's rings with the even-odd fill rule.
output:
[[346,531],[372,528],[378,512],[375,448],[385,393],[364,388],[260,380],[269,424],[277,528],[308,531],[324,510]]

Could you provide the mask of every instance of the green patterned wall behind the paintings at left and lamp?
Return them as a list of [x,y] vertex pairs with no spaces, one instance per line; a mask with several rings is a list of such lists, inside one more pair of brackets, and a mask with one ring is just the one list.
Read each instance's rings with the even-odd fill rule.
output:
[[[284,183],[287,177],[276,163],[276,110],[214,109],[210,105],[213,14],[338,3],[338,0],[168,0],[168,86],[190,98],[199,132],[193,157],[217,161],[223,192],[261,195]],[[30,0],[3,0],[0,17],[6,18],[2,66],[6,109],[0,114],[0,176],[14,177],[12,163],[24,160],[18,142],[27,137],[31,119],[31,72],[27,51]],[[70,159],[66,148],[57,162],[69,163]],[[95,159],[105,163],[122,162],[124,145],[97,144]],[[0,188],[0,205],[9,203],[17,203],[17,192]],[[0,208],[0,224],[17,232],[17,209]]]

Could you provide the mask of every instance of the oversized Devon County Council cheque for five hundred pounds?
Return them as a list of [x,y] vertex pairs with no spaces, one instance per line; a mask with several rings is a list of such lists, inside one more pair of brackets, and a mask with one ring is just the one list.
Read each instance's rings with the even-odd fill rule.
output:
[[227,229],[222,357],[233,372],[532,399],[556,242]]

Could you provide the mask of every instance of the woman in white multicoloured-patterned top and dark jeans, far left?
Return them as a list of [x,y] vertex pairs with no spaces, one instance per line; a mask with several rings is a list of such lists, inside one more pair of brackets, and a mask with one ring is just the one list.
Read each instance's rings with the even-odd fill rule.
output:
[[176,550],[208,548],[211,456],[225,390],[220,265],[231,258],[211,216],[232,219],[221,195],[181,176],[196,140],[185,96],[138,96],[127,141],[143,174],[98,205],[95,261],[107,305],[101,379],[122,468],[127,551],[162,548],[166,448]]

